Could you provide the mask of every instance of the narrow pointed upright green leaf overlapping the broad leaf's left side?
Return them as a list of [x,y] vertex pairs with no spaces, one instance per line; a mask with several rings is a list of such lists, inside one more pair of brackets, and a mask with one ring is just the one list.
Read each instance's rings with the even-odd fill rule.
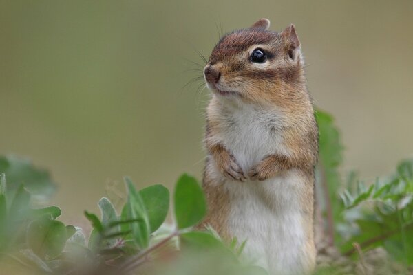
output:
[[[147,248],[151,228],[145,204],[129,177],[125,177],[125,184],[128,190],[128,198],[125,205],[126,217],[127,220],[137,220],[130,224],[132,235],[141,249]],[[127,225],[124,228],[127,228]]]

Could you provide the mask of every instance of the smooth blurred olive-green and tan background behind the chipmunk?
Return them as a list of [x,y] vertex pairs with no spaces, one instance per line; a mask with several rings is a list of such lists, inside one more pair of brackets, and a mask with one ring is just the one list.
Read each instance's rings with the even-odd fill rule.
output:
[[268,17],[295,23],[346,170],[386,175],[413,153],[412,14],[413,1],[0,0],[0,154],[52,171],[64,219],[123,175],[200,178],[209,91],[184,88],[199,75],[187,59],[209,56],[217,29]]

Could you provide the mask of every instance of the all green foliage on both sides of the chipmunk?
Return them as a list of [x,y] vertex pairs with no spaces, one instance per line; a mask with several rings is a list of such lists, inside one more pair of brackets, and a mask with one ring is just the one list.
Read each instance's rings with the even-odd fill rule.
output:
[[[345,183],[339,131],[327,113],[317,111],[316,118],[318,204],[330,242],[354,259],[381,247],[394,261],[413,265],[413,159],[372,184],[355,173]],[[55,190],[45,170],[27,159],[0,157],[0,261],[16,261],[31,274],[33,267],[39,274],[140,274],[148,269],[162,275],[267,274],[243,259],[248,240],[226,243],[208,226],[194,229],[207,212],[195,178],[179,177],[172,203],[165,186],[137,190],[129,177],[124,181],[127,199],[121,208],[103,197],[100,215],[85,211],[92,228],[87,237],[87,228],[59,221],[59,207],[39,208],[39,201],[44,206]],[[174,225],[165,222],[168,214]],[[319,274],[331,274],[329,268]]]

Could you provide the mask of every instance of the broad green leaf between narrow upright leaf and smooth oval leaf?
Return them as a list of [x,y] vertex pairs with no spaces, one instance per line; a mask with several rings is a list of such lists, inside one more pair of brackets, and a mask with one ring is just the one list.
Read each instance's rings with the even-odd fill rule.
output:
[[155,232],[165,221],[169,210],[169,190],[160,184],[139,191],[147,214],[151,232]]

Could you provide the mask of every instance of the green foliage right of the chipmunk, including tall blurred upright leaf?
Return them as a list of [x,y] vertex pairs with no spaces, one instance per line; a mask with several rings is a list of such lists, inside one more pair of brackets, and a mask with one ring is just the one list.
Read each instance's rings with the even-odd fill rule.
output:
[[[401,162],[396,173],[365,184],[350,173],[344,183],[339,171],[343,146],[330,115],[316,113],[324,215],[331,219],[335,245],[345,255],[383,247],[396,261],[413,265],[413,159]],[[328,217],[329,213],[331,214]]]

